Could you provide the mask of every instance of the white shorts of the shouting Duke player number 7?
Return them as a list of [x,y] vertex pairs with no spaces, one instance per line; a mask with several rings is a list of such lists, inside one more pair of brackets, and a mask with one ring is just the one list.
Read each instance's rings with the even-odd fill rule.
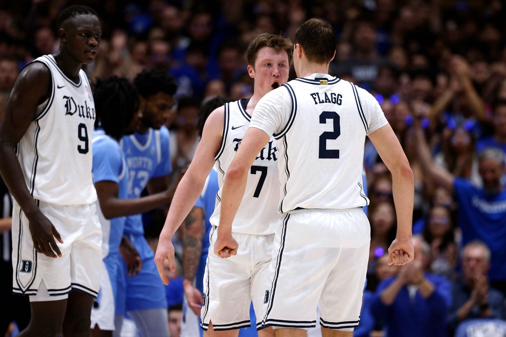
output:
[[262,308],[267,273],[272,257],[274,234],[255,235],[232,232],[239,247],[237,255],[222,259],[214,253],[216,227],[210,234],[209,255],[204,273],[204,294],[200,313],[203,330],[209,322],[214,330],[249,327],[251,301],[262,328]]

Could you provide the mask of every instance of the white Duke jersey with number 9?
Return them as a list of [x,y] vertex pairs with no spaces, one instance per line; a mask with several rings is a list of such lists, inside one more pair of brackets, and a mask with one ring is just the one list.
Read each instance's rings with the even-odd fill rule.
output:
[[80,70],[79,81],[73,82],[52,55],[33,62],[49,68],[52,86],[16,147],[26,185],[33,198],[47,203],[92,204],[97,200],[92,180],[96,116],[88,77]]

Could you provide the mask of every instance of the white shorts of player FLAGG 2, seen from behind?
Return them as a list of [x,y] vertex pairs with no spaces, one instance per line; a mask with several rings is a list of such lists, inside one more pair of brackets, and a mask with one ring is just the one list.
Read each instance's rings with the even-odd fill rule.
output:
[[296,210],[281,220],[269,267],[263,326],[320,325],[353,331],[360,322],[370,226],[361,208]]

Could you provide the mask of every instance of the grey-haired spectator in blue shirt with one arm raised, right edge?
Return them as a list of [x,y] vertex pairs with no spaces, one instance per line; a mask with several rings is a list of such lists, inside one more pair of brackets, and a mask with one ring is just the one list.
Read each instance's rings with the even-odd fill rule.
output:
[[419,119],[416,118],[416,143],[420,163],[439,185],[453,191],[459,204],[457,224],[462,231],[462,244],[482,240],[492,252],[489,272],[492,284],[506,293],[506,190],[500,182],[504,173],[504,154],[489,148],[478,157],[483,187],[434,165]]

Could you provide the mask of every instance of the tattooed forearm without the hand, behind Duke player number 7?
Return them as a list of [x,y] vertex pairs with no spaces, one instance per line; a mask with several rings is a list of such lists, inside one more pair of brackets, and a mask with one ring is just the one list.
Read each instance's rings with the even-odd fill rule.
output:
[[195,277],[202,251],[203,216],[201,208],[193,207],[183,228],[183,272],[185,279],[190,281]]

